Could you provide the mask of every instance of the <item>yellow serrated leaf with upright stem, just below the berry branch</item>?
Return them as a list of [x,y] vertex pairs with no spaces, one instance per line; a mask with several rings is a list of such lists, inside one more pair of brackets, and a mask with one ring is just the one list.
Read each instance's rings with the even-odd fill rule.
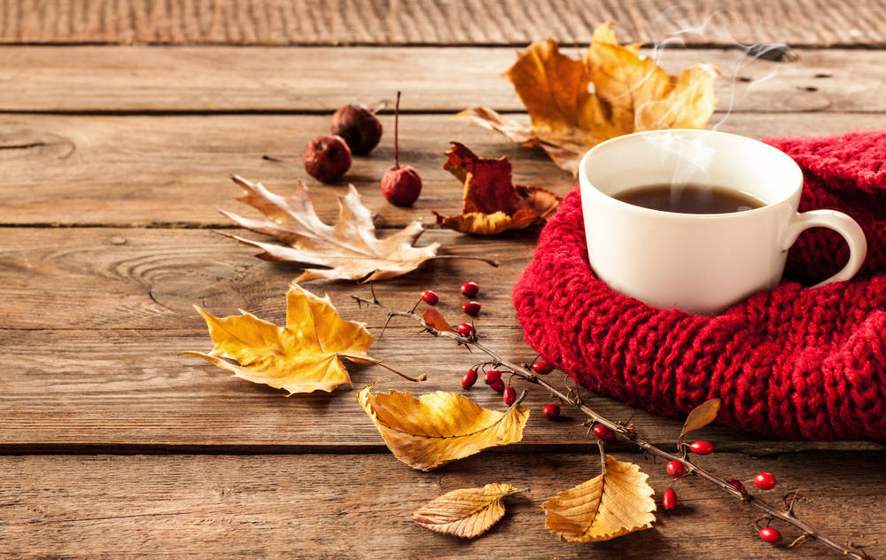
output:
[[637,465],[607,455],[600,476],[541,504],[548,514],[545,525],[569,542],[609,541],[649,529],[656,520],[656,502],[647,478]]

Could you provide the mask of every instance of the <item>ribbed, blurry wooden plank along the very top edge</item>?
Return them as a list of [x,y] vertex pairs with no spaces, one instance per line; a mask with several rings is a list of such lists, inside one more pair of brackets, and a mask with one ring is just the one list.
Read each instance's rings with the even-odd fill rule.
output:
[[587,43],[617,21],[631,41],[886,43],[882,0],[4,0],[0,43]]

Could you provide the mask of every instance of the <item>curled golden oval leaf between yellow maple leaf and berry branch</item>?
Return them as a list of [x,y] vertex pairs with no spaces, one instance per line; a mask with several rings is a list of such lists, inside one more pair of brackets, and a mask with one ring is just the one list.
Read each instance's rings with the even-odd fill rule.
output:
[[507,413],[480,408],[455,393],[357,392],[357,401],[376,424],[391,453],[419,471],[505,446],[523,439],[529,408],[516,404]]

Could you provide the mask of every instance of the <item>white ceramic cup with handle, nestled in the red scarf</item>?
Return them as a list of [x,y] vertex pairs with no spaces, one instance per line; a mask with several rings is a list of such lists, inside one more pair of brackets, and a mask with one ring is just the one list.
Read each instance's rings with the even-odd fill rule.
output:
[[[702,183],[746,192],[766,206],[731,214],[680,214],[614,195],[656,183]],[[850,248],[842,270],[859,271],[867,241],[835,210],[797,213],[803,172],[780,150],[709,130],[653,130],[596,145],[579,166],[587,253],[618,292],[660,308],[710,315],[781,282],[788,249],[804,229],[835,229]]]

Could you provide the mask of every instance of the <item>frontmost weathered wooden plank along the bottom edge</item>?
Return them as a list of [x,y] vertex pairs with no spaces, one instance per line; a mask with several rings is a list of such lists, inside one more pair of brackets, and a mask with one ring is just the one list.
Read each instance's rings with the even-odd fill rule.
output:
[[[672,481],[639,455],[618,453],[649,472],[657,498]],[[540,503],[599,472],[590,455],[478,455],[430,473],[391,455],[0,457],[0,555],[16,558],[612,557],[661,560],[827,560],[816,542],[788,551],[760,541],[757,517],[701,480],[677,483],[680,506],[657,513],[655,528],[602,543],[573,545],[544,527]],[[725,476],[772,471],[777,490],[799,488],[797,514],[836,541],[869,544],[882,557],[886,475],[882,454],[835,453],[751,459],[715,454],[699,460]],[[507,513],[472,541],[426,531],[409,516],[459,487],[508,482],[528,488],[506,500]],[[777,525],[785,542],[799,536]]]

